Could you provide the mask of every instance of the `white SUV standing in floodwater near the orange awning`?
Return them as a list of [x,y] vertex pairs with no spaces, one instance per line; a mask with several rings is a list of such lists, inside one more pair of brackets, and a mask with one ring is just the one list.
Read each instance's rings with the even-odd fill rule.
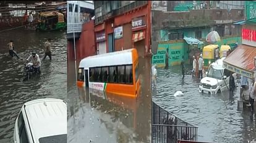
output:
[[[211,63],[208,68],[207,76],[200,81],[199,92],[217,94],[218,92],[229,89],[229,76],[231,72],[223,68],[224,59],[225,57]],[[235,77],[236,76],[234,76],[234,78]]]

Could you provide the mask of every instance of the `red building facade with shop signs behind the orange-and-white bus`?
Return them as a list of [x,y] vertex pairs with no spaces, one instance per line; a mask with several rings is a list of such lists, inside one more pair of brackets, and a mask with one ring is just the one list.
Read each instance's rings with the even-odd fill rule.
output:
[[97,54],[135,48],[150,53],[150,1],[95,1]]

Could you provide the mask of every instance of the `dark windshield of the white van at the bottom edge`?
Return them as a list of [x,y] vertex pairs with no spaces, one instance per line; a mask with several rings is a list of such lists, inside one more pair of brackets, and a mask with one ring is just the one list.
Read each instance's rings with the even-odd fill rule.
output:
[[41,137],[40,143],[63,143],[67,142],[67,134],[59,134],[55,136]]

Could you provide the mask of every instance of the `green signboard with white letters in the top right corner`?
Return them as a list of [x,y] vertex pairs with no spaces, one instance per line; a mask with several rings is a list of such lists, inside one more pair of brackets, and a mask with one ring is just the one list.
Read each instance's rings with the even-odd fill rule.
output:
[[246,18],[250,22],[256,22],[256,1],[245,1]]

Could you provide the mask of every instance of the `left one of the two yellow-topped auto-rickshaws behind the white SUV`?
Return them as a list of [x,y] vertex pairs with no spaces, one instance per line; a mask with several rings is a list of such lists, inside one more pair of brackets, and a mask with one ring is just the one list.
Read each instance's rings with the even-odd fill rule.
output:
[[217,44],[210,44],[203,47],[203,66],[208,67],[214,62],[214,52],[216,48],[218,48]]

